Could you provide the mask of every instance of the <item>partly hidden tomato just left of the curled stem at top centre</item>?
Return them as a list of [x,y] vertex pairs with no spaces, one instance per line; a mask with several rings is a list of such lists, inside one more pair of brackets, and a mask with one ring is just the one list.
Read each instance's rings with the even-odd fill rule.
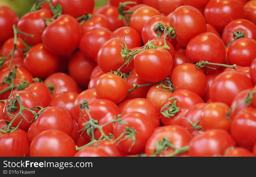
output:
[[122,19],[121,20],[118,19],[119,17],[118,8],[115,6],[111,6],[111,5],[103,6],[97,9],[93,13],[93,15],[95,14],[103,14],[107,17],[111,25],[111,31],[114,31],[117,28],[124,26],[124,21]]

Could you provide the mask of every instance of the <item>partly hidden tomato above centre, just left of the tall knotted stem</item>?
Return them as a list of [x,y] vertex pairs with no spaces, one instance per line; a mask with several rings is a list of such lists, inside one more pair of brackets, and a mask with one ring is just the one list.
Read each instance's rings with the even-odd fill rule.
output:
[[141,47],[141,34],[136,31],[136,29],[124,26],[116,29],[110,36],[110,39],[118,38],[120,40],[124,40],[127,44],[128,49],[132,49],[134,47]]

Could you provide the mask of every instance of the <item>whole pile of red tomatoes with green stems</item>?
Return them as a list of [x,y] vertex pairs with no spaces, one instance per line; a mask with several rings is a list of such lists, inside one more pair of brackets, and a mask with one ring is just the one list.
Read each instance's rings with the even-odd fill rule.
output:
[[255,156],[256,0],[0,6],[0,156]]

